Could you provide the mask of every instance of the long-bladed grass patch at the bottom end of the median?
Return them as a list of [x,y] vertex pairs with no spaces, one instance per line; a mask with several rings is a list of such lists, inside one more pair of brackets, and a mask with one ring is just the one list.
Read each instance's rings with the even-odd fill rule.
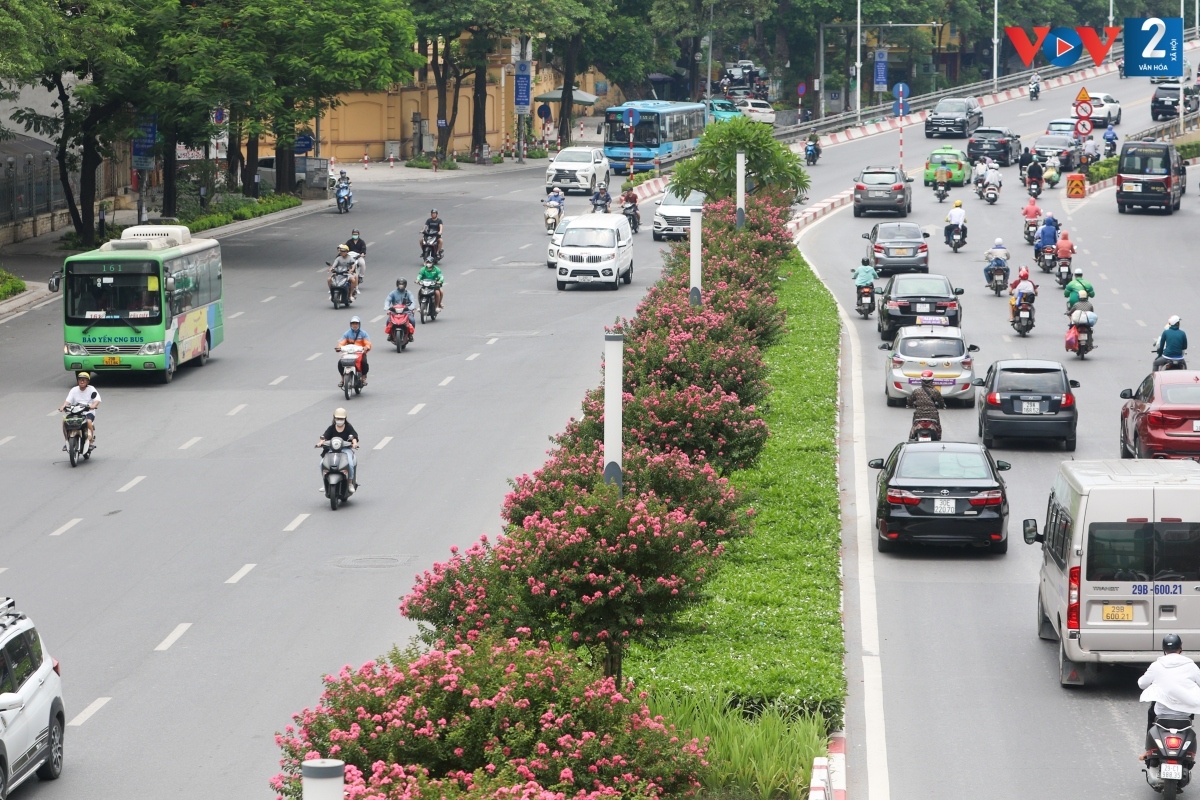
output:
[[709,795],[799,800],[808,794],[812,759],[828,747],[822,718],[774,706],[749,716],[730,698],[656,692],[650,710],[708,740],[701,782]]

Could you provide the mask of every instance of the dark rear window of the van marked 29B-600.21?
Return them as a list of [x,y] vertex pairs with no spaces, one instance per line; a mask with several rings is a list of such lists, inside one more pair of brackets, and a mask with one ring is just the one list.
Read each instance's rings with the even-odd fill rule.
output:
[[1088,581],[1200,581],[1200,523],[1093,522]]

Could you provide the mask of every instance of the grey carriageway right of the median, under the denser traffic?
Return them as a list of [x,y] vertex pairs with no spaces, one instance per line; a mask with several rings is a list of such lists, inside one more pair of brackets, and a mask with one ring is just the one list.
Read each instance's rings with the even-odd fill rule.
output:
[[[1088,89],[1110,91],[1126,101],[1126,121],[1118,131],[1150,122],[1151,88],[1146,82],[1112,77],[1091,82]],[[1066,115],[1075,91],[1078,85],[1044,92],[1039,103],[989,108],[986,120],[1032,133],[1045,120]],[[844,181],[868,162],[886,162],[884,138],[830,148],[814,172],[834,173]],[[923,138],[918,143],[923,151],[931,144]],[[938,205],[931,191],[922,188],[919,178],[913,185],[910,219],[931,231],[930,271],[949,276],[966,290],[964,331],[968,342],[980,347],[976,359],[979,374],[997,359],[1040,357],[1063,361],[1070,377],[1080,381],[1078,451],[1068,456],[1061,446],[1049,444],[997,443],[996,457],[1013,464],[1006,474],[1012,546],[1002,557],[936,548],[880,554],[869,534],[865,541],[856,535],[857,503],[864,498],[856,503],[853,494],[847,494],[847,763],[850,796],[856,799],[1154,796],[1138,762],[1145,732],[1145,708],[1138,703],[1135,682],[1140,670],[1114,669],[1096,685],[1060,687],[1057,644],[1039,640],[1034,630],[1040,551],[1021,541],[1020,521],[1036,517],[1039,525],[1044,523],[1049,485],[1064,458],[1117,457],[1120,390],[1135,386],[1148,372],[1151,339],[1169,314],[1181,314],[1188,325],[1198,299],[1187,270],[1200,246],[1200,170],[1193,168],[1183,210],[1171,217],[1157,212],[1120,216],[1111,190],[1069,206],[1061,185],[1043,197],[1043,207],[1063,218],[1076,240],[1080,254],[1075,265],[1085,269],[1098,293],[1099,349],[1084,362],[1063,351],[1061,289],[1050,276],[1033,270],[1043,291],[1038,325],[1025,339],[1008,326],[1007,297],[983,288],[982,253],[996,236],[1016,252],[1014,267],[1032,263],[1018,213],[1027,196],[1016,181],[1016,168],[1003,172],[1003,196],[995,206],[968,191],[952,193],[952,199],[961,198],[967,209],[970,245],[962,252],[954,254],[942,243],[949,201]],[[842,419],[851,422],[842,441],[847,492],[857,483],[870,493],[876,477],[854,458],[853,438],[859,431],[853,420],[864,423],[866,458],[886,457],[906,438],[911,420],[911,413],[887,408],[880,391],[883,354],[876,349],[875,318],[863,320],[852,312],[848,270],[862,255],[865,242],[860,234],[881,218],[887,217],[856,219],[842,209],[806,229],[800,240],[802,251],[852,317],[846,319],[851,347],[844,356],[842,392],[847,403]],[[860,379],[858,395],[853,391],[856,378]],[[856,396],[862,397],[860,408],[854,407]],[[974,409],[950,409],[942,419],[947,439],[978,441]],[[865,470],[865,482],[859,480],[859,470]],[[874,499],[868,497],[865,503],[871,506]],[[865,615],[860,603],[864,585],[876,593],[874,608],[865,604]],[[877,660],[871,651],[876,626]],[[865,658],[864,631],[871,645]],[[1196,648],[1200,645],[1189,645]],[[882,704],[872,696],[864,672],[875,663],[882,668]],[[870,726],[868,711],[872,715]],[[868,752],[866,742],[880,741],[881,735],[886,750]]]

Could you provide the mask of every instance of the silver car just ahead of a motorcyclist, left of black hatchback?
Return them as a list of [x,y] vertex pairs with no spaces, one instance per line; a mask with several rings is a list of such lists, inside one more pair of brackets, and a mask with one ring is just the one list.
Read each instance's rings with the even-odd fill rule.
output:
[[888,405],[904,405],[905,398],[920,385],[920,373],[934,373],[934,385],[947,399],[960,399],[962,405],[974,405],[974,357],[979,348],[962,339],[961,327],[910,325],[896,331],[883,362],[883,392]]

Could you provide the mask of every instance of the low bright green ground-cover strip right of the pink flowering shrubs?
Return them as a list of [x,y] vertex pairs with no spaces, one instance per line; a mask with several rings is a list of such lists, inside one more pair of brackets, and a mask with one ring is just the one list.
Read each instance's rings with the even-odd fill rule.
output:
[[660,650],[632,648],[626,673],[655,691],[728,696],[841,722],[846,697],[840,606],[836,441],[839,320],[799,254],[779,287],[788,330],[767,350],[770,439],[733,482],[756,511],[731,541],[709,597]]

